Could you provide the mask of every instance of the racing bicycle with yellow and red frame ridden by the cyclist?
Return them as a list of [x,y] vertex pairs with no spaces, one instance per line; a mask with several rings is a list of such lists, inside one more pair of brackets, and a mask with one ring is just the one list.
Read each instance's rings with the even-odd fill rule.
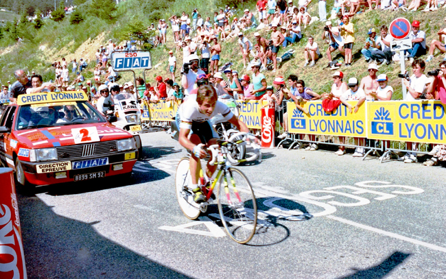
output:
[[[247,139],[254,136],[245,132],[233,134],[228,141],[218,141],[207,150],[211,151],[211,165],[218,165],[218,171],[206,185],[205,171],[200,171],[200,183],[207,202],[197,204],[193,201],[191,189],[191,174],[189,171],[189,157],[184,157],[176,167],[175,189],[178,204],[187,218],[194,220],[200,214],[207,212],[207,207],[216,200],[218,213],[223,226],[231,239],[237,243],[248,243],[255,234],[257,226],[257,202],[253,187],[242,171],[231,167],[228,153],[233,145],[247,145]],[[249,162],[261,157],[259,145],[251,141],[249,143],[254,149],[254,154],[248,158],[240,159],[239,162]],[[215,186],[217,188],[215,189]],[[215,193],[214,193],[215,190]]]

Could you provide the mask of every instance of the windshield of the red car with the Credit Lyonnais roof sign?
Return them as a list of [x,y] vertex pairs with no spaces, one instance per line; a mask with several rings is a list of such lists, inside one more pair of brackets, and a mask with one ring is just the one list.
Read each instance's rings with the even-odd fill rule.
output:
[[16,130],[106,122],[86,101],[21,106]]

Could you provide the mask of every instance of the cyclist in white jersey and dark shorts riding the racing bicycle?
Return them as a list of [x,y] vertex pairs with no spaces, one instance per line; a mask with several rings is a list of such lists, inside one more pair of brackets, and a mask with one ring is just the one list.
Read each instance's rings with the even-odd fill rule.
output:
[[[206,201],[206,197],[198,187],[198,177],[200,173],[200,158],[207,156],[207,151],[202,149],[204,145],[210,146],[217,143],[217,133],[209,122],[211,117],[222,114],[225,121],[229,121],[241,132],[249,132],[245,123],[237,119],[231,110],[218,101],[217,93],[213,86],[204,84],[198,88],[196,95],[190,95],[183,103],[181,110],[180,136],[178,141],[180,145],[192,152],[189,168],[191,171],[192,185],[191,189],[195,193],[194,202],[201,203]],[[258,140],[257,140],[258,141]],[[209,159],[211,160],[211,159]],[[207,164],[206,174],[210,178],[216,166]]]

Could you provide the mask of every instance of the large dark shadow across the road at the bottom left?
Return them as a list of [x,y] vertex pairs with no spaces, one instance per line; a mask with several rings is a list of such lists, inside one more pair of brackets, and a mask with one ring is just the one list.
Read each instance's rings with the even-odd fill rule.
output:
[[38,197],[19,195],[19,209],[28,278],[189,278],[106,239],[97,222],[55,214]]

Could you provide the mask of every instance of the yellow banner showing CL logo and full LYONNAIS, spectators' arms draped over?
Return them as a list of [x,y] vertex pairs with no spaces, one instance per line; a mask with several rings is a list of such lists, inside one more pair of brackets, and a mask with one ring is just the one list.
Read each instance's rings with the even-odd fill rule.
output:
[[352,113],[341,104],[333,112],[325,112],[322,101],[308,101],[300,105],[308,113],[298,110],[293,102],[287,103],[287,124],[290,133],[321,134],[326,136],[366,137],[366,104],[362,104],[357,112],[354,106],[357,101],[348,101]]

